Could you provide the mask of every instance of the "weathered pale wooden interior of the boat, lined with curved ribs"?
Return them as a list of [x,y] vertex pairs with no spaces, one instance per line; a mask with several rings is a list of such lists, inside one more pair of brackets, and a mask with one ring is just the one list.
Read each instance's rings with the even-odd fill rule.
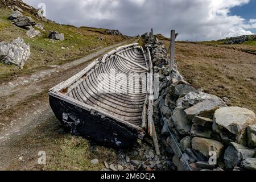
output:
[[[114,49],[102,57],[100,64],[95,62],[90,65],[89,70],[85,69],[86,76],[82,77],[82,73],[80,73],[74,77],[75,81],[68,83],[68,92],[65,95],[96,110],[113,115],[114,118],[121,119],[123,122],[146,129],[148,80],[146,76],[141,75],[148,72],[146,67],[147,60],[141,47],[130,46]],[[102,86],[109,84],[107,78],[113,71],[116,74],[117,82],[109,86],[108,91],[111,92],[106,92]],[[104,73],[102,75],[104,80],[101,81],[99,75],[102,73]],[[138,82],[132,82],[133,80],[128,77],[130,73],[138,74],[134,75],[135,79],[139,79]],[[129,90],[133,89],[135,93],[122,92],[121,86],[126,83],[127,85],[124,86],[127,86]],[[62,85],[58,86],[58,89]],[[117,93],[114,92],[115,90]]]

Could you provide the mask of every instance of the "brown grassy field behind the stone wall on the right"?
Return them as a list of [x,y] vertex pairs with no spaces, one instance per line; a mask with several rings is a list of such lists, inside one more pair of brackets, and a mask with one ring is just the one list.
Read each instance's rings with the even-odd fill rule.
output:
[[[162,40],[166,46],[170,42]],[[228,97],[233,106],[256,113],[255,43],[224,45],[218,42],[176,43],[176,61],[185,80],[204,92]]]

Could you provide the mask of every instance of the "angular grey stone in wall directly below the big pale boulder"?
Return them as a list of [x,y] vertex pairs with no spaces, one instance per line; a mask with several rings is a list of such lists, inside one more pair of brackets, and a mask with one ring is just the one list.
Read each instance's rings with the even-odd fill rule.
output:
[[254,150],[242,146],[241,144],[231,142],[224,154],[225,166],[228,169],[233,169],[236,166],[240,167],[242,160],[251,158],[254,154]]

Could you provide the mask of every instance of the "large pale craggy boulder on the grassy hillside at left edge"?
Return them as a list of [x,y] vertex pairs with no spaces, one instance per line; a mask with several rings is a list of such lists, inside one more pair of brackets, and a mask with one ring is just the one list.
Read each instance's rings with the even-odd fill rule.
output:
[[28,57],[30,57],[30,45],[22,38],[15,39],[11,43],[0,43],[0,61],[3,64],[14,64],[23,68]]

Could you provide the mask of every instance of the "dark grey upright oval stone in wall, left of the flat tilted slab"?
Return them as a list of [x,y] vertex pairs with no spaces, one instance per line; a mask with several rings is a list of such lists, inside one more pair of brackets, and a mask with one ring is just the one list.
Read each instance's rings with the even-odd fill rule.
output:
[[176,130],[179,131],[181,135],[185,135],[190,132],[192,122],[188,120],[183,107],[176,107],[172,114],[172,120],[174,121]]

